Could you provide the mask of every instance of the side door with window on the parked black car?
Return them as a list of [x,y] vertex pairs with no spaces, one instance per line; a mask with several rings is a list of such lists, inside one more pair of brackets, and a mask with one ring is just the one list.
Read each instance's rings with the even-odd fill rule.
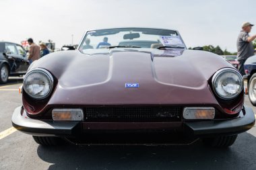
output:
[[5,54],[7,55],[7,60],[10,66],[10,73],[16,74],[21,72],[21,63],[24,58],[18,54],[16,44],[5,43]]

